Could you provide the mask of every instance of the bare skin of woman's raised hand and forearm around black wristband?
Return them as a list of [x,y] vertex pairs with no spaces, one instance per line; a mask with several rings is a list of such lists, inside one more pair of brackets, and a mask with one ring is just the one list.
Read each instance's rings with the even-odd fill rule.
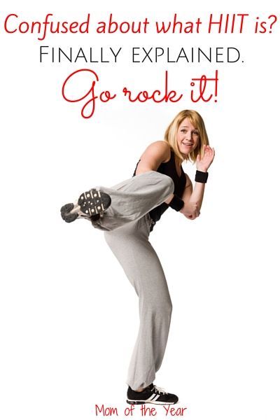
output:
[[[215,150],[210,146],[204,146],[204,156],[200,158],[200,155],[197,155],[196,166],[197,170],[200,172],[207,172],[211,163],[214,160]],[[185,203],[193,202],[197,203],[197,209],[200,211],[202,207],[202,200],[204,195],[205,183],[195,182],[195,188],[187,176],[186,188],[184,190],[182,200]]]

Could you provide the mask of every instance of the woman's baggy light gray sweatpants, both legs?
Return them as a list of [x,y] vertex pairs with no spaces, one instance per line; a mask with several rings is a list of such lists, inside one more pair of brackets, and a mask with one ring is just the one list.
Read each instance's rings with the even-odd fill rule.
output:
[[139,334],[127,377],[127,384],[137,390],[154,381],[169,333],[172,302],[162,265],[148,240],[148,211],[165,202],[174,183],[169,176],[151,171],[112,188],[99,188],[112,202],[104,217],[92,224],[106,231],[107,244],[139,296]]

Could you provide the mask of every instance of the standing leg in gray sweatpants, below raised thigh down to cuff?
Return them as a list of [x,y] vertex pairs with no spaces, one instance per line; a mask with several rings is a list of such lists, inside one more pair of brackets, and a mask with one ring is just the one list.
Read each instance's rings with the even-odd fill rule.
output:
[[105,232],[105,239],[139,296],[139,334],[127,384],[134,390],[150,385],[162,364],[169,333],[172,302],[165,274],[148,241],[149,216]]

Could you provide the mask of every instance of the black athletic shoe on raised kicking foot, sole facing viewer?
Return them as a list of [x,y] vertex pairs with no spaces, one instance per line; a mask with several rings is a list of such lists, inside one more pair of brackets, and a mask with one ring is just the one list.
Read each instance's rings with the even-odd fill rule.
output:
[[75,204],[64,204],[60,209],[60,214],[67,223],[76,221],[77,218],[94,217],[94,220],[97,220],[110,205],[110,195],[93,188],[82,193]]

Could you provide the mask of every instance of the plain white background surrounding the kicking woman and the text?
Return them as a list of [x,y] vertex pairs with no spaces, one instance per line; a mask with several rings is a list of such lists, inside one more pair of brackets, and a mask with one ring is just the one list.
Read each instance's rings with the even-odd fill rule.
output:
[[[276,3],[275,3],[276,4]],[[60,8],[11,3],[1,13],[1,418],[94,419],[95,404],[118,407],[137,336],[137,296],[102,232],[66,224],[59,209],[96,185],[130,178],[139,156],[181,109],[199,111],[216,158],[200,218],[168,211],[151,234],[172,295],[172,326],[155,384],[179,395],[191,420],[279,419],[279,22],[272,34],[60,35],[37,41],[3,33],[3,19],[168,20],[250,13],[172,2],[142,11],[125,2]],[[71,8],[72,11],[68,11]],[[34,11],[35,9],[35,11]],[[64,10],[65,9],[65,10]],[[127,11],[130,10],[130,11]],[[279,14],[278,14],[279,16]],[[280,19],[280,17],[279,17]],[[253,25],[251,26],[253,27]],[[248,25],[249,28],[249,25]],[[39,45],[94,48],[238,48],[244,63],[40,64]],[[121,94],[89,120],[61,95],[72,71],[91,68],[100,88],[188,90],[219,71],[218,102],[130,104]],[[195,167],[184,168],[193,179]],[[158,407],[158,416],[165,412]],[[135,409],[139,416],[139,407]]]

